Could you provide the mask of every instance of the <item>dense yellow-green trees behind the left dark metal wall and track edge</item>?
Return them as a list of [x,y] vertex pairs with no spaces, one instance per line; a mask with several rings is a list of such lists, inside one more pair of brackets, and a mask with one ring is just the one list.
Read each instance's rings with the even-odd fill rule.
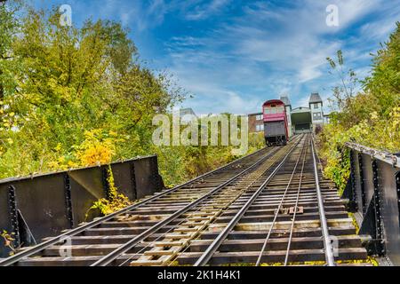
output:
[[[144,66],[118,22],[0,4],[0,178],[157,154],[166,185],[233,160],[230,147],[155,146],[155,114],[185,97]],[[253,138],[251,151],[262,138]]]

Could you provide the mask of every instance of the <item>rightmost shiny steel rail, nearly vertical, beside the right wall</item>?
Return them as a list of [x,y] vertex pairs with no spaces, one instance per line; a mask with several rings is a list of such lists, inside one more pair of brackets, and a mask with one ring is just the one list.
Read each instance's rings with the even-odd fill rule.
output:
[[325,216],[325,209],[324,209],[324,201],[321,193],[321,187],[319,186],[319,177],[318,177],[318,167],[316,165],[316,154],[314,150],[314,141],[311,142],[311,153],[313,155],[313,162],[314,162],[314,176],[316,178],[316,197],[318,200],[318,209],[319,209],[319,218],[322,227],[322,233],[324,238],[324,254],[326,264],[328,266],[335,266],[334,256],[333,256],[333,249],[331,238],[329,236],[329,229],[328,229],[328,222]]

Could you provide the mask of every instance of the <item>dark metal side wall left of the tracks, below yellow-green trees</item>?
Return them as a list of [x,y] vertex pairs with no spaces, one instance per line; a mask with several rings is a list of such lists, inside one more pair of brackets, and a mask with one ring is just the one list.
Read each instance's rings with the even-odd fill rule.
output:
[[[111,170],[111,171],[110,171]],[[131,201],[164,188],[156,155],[82,169],[0,180],[0,233],[6,231],[15,248],[36,244],[100,212],[88,210],[108,198],[109,175],[119,193]],[[0,238],[0,257],[10,248]]]

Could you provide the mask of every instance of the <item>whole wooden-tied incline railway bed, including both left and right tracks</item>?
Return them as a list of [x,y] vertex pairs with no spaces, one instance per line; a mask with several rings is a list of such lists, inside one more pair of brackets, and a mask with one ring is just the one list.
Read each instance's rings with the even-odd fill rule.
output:
[[303,135],[24,248],[0,265],[335,265],[366,258],[336,189],[318,169],[311,136]]

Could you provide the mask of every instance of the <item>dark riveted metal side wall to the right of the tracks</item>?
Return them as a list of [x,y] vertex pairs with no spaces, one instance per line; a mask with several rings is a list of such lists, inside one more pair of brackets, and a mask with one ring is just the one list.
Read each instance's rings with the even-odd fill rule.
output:
[[400,155],[347,143],[350,177],[343,193],[372,255],[400,264]]

